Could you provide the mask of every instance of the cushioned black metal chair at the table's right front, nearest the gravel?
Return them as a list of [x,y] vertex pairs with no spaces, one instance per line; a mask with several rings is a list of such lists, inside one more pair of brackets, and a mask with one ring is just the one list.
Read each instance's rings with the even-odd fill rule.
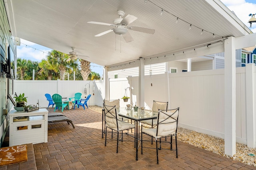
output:
[[[156,142],[156,160],[157,164],[159,164],[158,161],[158,150],[160,149],[167,149],[162,148],[161,143],[170,143],[170,149],[167,150],[175,150],[176,151],[176,158],[178,158],[178,148],[177,148],[177,126],[178,126],[178,116],[179,116],[179,107],[176,109],[170,109],[170,110],[159,110],[158,111],[158,118],[157,118],[157,124],[153,126],[152,128],[144,128],[143,125],[141,125],[141,154],[143,154],[142,149],[143,148],[150,148],[150,147],[143,147],[143,134],[149,135],[151,137],[155,138]],[[175,136],[175,144],[176,148],[172,148],[172,137]],[[170,137],[170,142],[162,141],[162,137]],[[158,139],[160,146],[158,147]],[[144,140],[145,141],[145,140]],[[154,148],[151,148],[154,149]]]

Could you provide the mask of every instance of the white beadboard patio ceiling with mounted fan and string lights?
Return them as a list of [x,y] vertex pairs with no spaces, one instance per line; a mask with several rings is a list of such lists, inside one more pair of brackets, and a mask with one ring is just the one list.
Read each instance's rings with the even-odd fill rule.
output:
[[[103,66],[167,55],[222,37],[252,33],[220,0],[149,0],[147,4],[144,0],[4,1],[14,37],[64,53],[75,47],[78,54],[90,57],[88,61]],[[162,8],[164,13],[160,16]],[[155,29],[155,33],[129,30],[134,39],[130,43],[123,38],[120,41],[113,31],[94,37],[113,27],[87,22],[112,23],[119,18],[118,10],[123,10],[125,16],[138,17],[130,25]],[[202,29],[204,33],[200,35]]]

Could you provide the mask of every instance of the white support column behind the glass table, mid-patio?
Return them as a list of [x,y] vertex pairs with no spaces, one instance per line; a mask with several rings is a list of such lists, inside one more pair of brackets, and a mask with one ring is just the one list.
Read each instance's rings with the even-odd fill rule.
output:
[[144,59],[140,59],[139,64],[139,102],[138,106],[145,107],[145,88],[144,88],[144,79],[145,79],[145,62]]

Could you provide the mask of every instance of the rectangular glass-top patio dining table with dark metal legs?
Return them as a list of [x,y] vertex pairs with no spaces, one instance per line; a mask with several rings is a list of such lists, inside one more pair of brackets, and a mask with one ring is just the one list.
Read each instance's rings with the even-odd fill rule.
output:
[[138,124],[142,120],[150,120],[150,119],[156,119],[158,112],[153,112],[152,110],[146,110],[144,109],[144,113],[141,108],[138,108],[138,111],[134,111],[134,108],[127,110],[124,107],[120,107],[120,109],[116,110],[118,111],[119,118],[120,117],[126,117],[128,119],[135,121],[135,133],[136,133],[136,139],[135,139],[135,147],[136,147],[136,160],[138,160]]

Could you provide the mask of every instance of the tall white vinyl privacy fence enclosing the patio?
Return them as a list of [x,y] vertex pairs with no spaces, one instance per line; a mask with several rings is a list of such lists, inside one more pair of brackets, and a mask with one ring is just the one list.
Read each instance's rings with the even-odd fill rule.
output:
[[[236,141],[247,144],[248,139],[256,143],[256,66],[236,68]],[[248,71],[249,70],[249,71]],[[252,74],[252,78],[246,75]],[[84,93],[85,84],[90,83],[87,94]],[[120,99],[120,106],[125,107],[128,102],[121,99],[125,89],[132,88],[133,105],[138,101],[138,77],[109,79],[110,99]],[[16,80],[14,92],[25,93],[28,104],[36,104],[39,100],[41,107],[47,107],[45,93],[58,93],[63,97],[72,97],[81,92],[84,96],[94,95],[89,105],[102,106],[105,88],[102,80],[95,81],[67,81],[67,80]],[[252,90],[248,90],[251,89]],[[247,90],[246,90],[247,88]],[[178,72],[153,75],[152,79],[145,76],[144,106],[151,109],[153,100],[169,102],[169,109],[180,107],[179,126],[208,135],[224,138],[224,69],[203,70],[193,72]],[[88,91],[88,89],[87,89]],[[130,96],[130,88],[126,91]],[[137,103],[140,107],[140,104]],[[250,106],[250,107],[248,107]],[[248,109],[252,108],[252,109]],[[249,122],[250,121],[250,122]]]

